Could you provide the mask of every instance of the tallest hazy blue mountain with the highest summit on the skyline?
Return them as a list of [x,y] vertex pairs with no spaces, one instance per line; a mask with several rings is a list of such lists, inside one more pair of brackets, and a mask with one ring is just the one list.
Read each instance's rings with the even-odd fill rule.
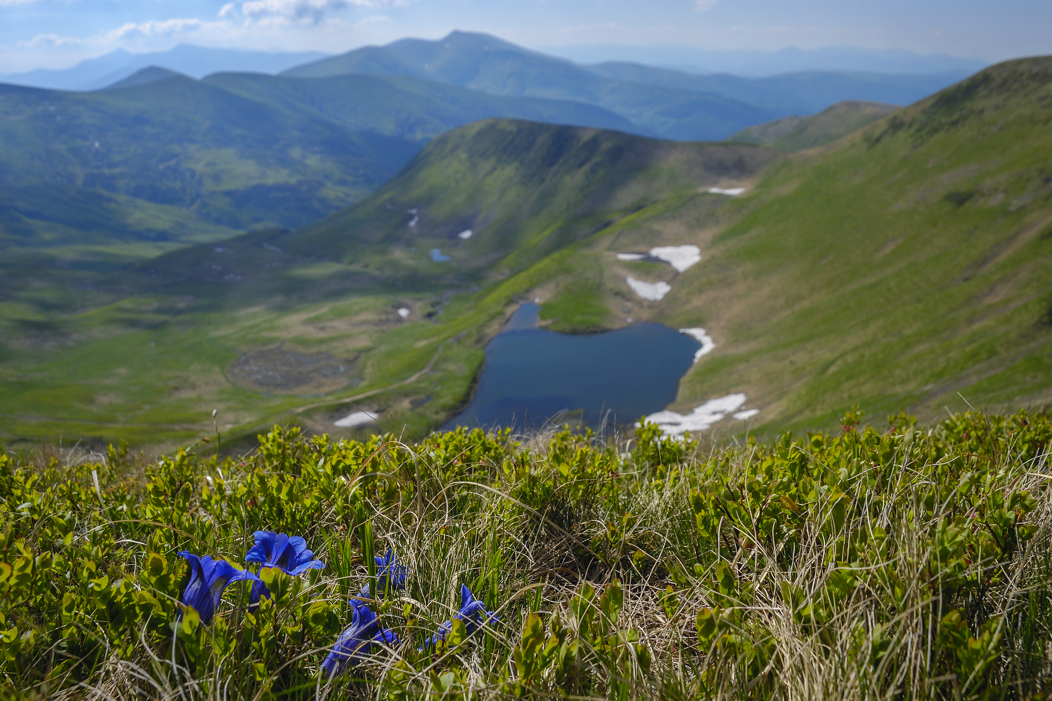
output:
[[403,39],[286,70],[322,78],[346,74],[403,75],[491,95],[570,100],[599,105],[631,121],[636,132],[667,139],[724,139],[778,115],[740,100],[628,81],[483,34],[453,32],[439,41]]

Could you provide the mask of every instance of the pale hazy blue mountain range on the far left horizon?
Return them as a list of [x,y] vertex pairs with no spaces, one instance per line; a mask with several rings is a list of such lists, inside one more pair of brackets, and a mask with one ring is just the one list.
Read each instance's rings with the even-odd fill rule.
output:
[[249,51],[189,44],[146,54],[130,54],[118,48],[61,70],[38,68],[20,74],[0,74],[0,82],[58,90],[97,90],[147,66],[167,68],[193,78],[203,78],[219,70],[275,74],[325,56],[321,51]]

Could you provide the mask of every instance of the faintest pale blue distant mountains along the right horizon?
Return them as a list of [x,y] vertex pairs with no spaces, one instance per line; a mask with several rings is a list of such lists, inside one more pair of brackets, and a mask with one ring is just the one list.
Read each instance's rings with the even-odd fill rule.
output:
[[776,51],[711,50],[675,44],[580,44],[543,49],[578,63],[632,61],[652,66],[679,68],[695,74],[730,73],[737,76],[768,77],[808,70],[867,71],[884,74],[972,74],[988,65],[976,59],[945,54],[914,54],[899,48],[787,47]]

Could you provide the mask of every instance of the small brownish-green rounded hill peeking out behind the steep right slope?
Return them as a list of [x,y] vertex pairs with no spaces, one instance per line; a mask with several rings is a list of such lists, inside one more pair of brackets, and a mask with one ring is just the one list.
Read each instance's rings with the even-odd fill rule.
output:
[[802,151],[836,141],[897,109],[878,102],[837,102],[812,117],[786,117],[742,129],[727,141]]

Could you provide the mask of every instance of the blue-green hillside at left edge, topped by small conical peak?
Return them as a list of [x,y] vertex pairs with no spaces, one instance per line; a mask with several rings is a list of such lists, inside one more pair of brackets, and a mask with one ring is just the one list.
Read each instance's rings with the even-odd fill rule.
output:
[[96,222],[115,241],[184,240],[160,218],[150,226],[153,205],[205,227],[295,226],[360,199],[418,148],[179,76],[100,92],[3,85],[0,97],[0,182],[66,190],[59,208],[8,190],[5,247],[85,243],[78,229]]

